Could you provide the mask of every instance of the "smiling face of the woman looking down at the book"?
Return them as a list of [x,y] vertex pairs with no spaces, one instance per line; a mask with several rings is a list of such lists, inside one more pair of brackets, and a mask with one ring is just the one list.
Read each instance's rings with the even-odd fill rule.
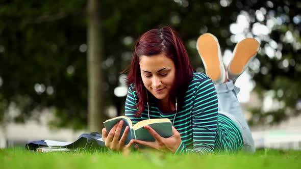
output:
[[139,57],[141,77],[145,88],[157,99],[167,101],[175,78],[175,66],[164,53]]

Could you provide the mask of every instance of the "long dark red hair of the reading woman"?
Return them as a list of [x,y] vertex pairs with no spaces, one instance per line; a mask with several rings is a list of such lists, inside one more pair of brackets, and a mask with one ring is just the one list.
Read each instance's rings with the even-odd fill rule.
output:
[[[127,82],[129,85],[134,83],[135,91],[139,98],[136,116],[141,115],[144,105],[147,102],[147,89],[144,87],[141,78],[139,57],[142,55],[152,57],[152,55],[160,53],[164,53],[166,57],[173,61],[176,70],[174,85],[169,93],[169,101],[174,99],[174,97],[177,97],[178,105],[182,107],[184,94],[191,79],[193,70],[187,51],[182,40],[179,38],[179,35],[172,30],[171,27],[164,26],[160,29],[153,29],[144,33],[137,40],[134,47],[133,59],[130,65]],[[155,97],[148,93],[148,99],[154,100]]]

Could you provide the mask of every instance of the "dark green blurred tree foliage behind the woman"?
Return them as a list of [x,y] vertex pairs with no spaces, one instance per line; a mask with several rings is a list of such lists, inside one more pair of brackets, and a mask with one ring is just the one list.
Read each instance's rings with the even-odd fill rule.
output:
[[[116,97],[120,72],[129,64],[135,40],[145,31],[159,25],[171,25],[183,38],[190,60],[197,70],[204,70],[195,49],[200,34],[210,32],[218,39],[222,51],[233,49],[229,25],[236,22],[241,11],[250,16],[250,28],[266,24],[273,13],[283,24],[275,25],[261,36],[264,51],[271,40],[278,43],[282,57],[258,55],[260,68],[250,67],[256,82],[255,91],[264,96],[273,91],[274,98],[284,103],[275,112],[274,122],[298,114],[300,101],[300,49],[284,41],[287,31],[298,43],[300,23],[292,22],[299,15],[297,1],[102,1],[101,15],[104,42],[104,105],[114,105],[118,115],[123,112],[124,97]],[[86,1],[2,1],[0,2],[0,121],[9,103],[15,102],[21,114],[15,120],[29,118],[33,109],[54,107],[58,121],[52,125],[82,128],[87,123],[87,63],[86,63]],[[187,6],[188,5],[188,6]],[[264,8],[264,19],[256,19],[256,11]],[[287,10],[289,9],[289,10]],[[300,15],[299,15],[300,16]],[[127,43],[124,39],[127,38]],[[82,51],[80,51],[80,49]],[[283,63],[288,62],[287,67]],[[267,70],[267,71],[263,71]],[[1,83],[2,81],[2,83]],[[282,94],[281,94],[282,93]],[[291,110],[287,112],[287,108]],[[266,117],[262,109],[254,111]],[[260,121],[266,123],[266,118]],[[257,123],[257,122],[256,122]]]

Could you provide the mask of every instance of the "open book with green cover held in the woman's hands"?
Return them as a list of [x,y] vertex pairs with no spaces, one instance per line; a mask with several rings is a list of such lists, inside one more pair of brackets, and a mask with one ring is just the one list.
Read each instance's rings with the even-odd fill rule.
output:
[[154,142],[154,136],[144,128],[144,126],[146,125],[152,127],[160,136],[164,138],[168,138],[172,135],[171,121],[167,118],[142,120],[133,125],[131,119],[126,116],[118,116],[116,118],[112,118],[105,121],[104,125],[107,129],[107,132],[109,133],[110,130],[114,127],[114,125],[121,120],[123,120],[124,123],[121,129],[119,139],[121,138],[126,127],[130,127],[130,132],[128,133],[126,142],[124,144],[130,143],[131,139],[139,139],[146,142]]

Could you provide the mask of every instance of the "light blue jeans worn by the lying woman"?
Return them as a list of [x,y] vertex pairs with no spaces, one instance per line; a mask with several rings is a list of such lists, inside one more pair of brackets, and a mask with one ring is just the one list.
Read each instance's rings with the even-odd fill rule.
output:
[[218,113],[229,117],[240,128],[243,138],[242,151],[254,153],[254,140],[236,96],[240,89],[234,86],[234,83],[231,80],[226,83],[215,85],[215,88],[218,97]]

